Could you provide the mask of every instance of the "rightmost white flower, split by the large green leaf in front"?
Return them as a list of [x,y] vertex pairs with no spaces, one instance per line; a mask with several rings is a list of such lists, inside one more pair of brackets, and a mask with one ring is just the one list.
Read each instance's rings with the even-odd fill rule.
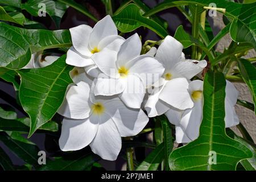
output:
[[[199,129],[203,119],[203,81],[195,80],[188,85],[189,94],[194,106],[183,112],[166,113],[169,121],[176,125],[176,142],[188,143],[199,137]],[[225,127],[239,124],[234,105],[236,105],[238,91],[234,85],[226,81],[225,88]]]

